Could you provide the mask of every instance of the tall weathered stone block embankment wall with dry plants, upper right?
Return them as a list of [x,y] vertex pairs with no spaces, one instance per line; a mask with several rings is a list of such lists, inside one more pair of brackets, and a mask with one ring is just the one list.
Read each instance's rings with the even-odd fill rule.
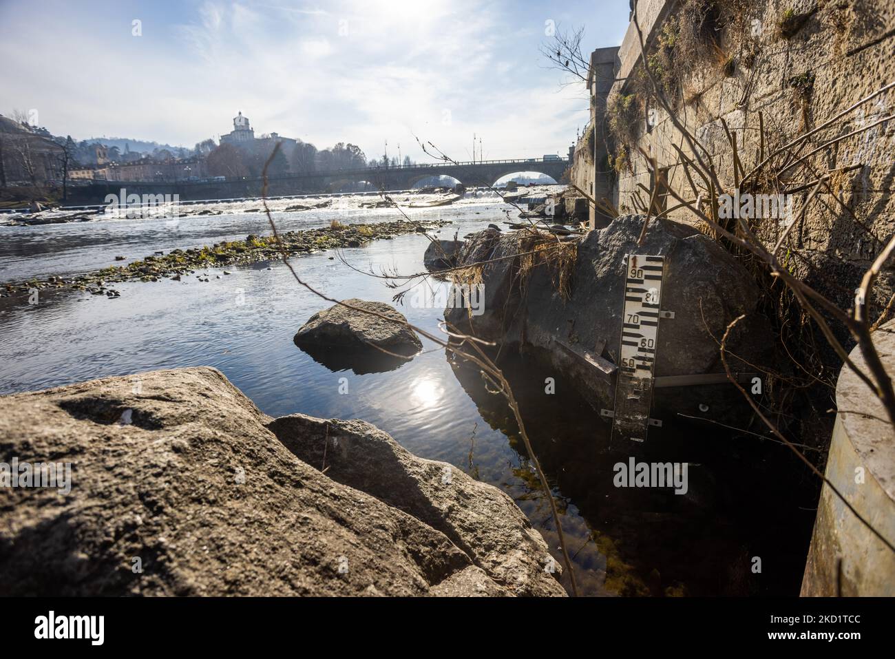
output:
[[[748,171],[776,147],[895,81],[895,38],[879,40],[895,25],[895,4],[884,0],[640,0],[637,12],[650,70],[679,121],[711,154],[726,186],[722,193],[732,194],[735,180],[734,153],[721,120]],[[638,195],[649,202],[644,188],[652,187],[652,175],[640,150],[656,158],[669,187],[695,199],[675,146],[691,156],[692,150],[669,114],[650,101],[641,69],[640,39],[632,23],[618,49],[607,110],[597,117],[598,124],[602,120],[610,129],[612,124],[622,128],[610,130],[614,139],[607,146],[615,172],[607,182],[623,214],[635,210]],[[891,116],[893,108],[895,89],[816,133],[797,156],[871,126]],[[768,170],[772,175],[759,177],[753,191],[791,193],[788,217],[799,223],[793,235],[799,252],[794,268],[803,276],[811,268],[825,270],[823,292],[845,306],[856,278],[895,231],[893,135],[895,122],[883,122],[820,150],[807,160],[809,167],[782,170],[778,160]],[[822,188],[805,218],[798,219],[811,187],[801,186],[827,172],[831,190]],[[668,196],[657,201],[660,209],[676,204]],[[686,209],[671,210],[669,217],[699,224]],[[768,244],[785,226],[780,218],[752,223]],[[875,301],[884,305],[891,295],[888,273],[876,294]]]

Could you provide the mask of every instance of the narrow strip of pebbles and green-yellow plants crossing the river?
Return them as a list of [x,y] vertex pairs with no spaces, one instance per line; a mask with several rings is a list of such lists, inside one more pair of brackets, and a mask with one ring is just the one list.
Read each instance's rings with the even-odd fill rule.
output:
[[[361,247],[373,240],[388,240],[396,235],[425,233],[442,227],[441,220],[409,221],[405,219],[371,224],[343,225],[334,221],[329,227],[281,233],[283,247],[291,256],[342,247]],[[4,284],[0,296],[27,295],[33,289],[63,289],[89,291],[94,295],[117,297],[119,292],[111,284],[125,281],[158,281],[159,278],[182,280],[193,276],[198,281],[209,280],[203,269],[226,265],[273,261],[280,258],[282,247],[273,235],[247,235],[244,240],[226,241],[202,247],[156,252],[140,261],[124,266],[109,266],[74,277],[31,278],[27,281]],[[122,254],[110,257],[124,261]],[[226,270],[224,274],[230,274]],[[219,277],[220,275],[217,275]]]

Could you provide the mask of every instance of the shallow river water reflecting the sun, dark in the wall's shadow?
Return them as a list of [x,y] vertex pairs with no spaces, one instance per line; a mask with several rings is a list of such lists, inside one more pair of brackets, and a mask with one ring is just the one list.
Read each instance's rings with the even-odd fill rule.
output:
[[[362,201],[371,198],[339,198],[324,210],[279,210],[274,218],[285,230],[327,226],[336,218],[401,218],[396,210],[362,209]],[[0,227],[0,281],[73,274],[115,264],[118,254],[133,260],[268,233],[267,218],[247,212],[260,202],[220,208],[222,215],[176,221]],[[439,234],[448,238],[500,224],[508,209],[484,196],[405,212],[450,221]],[[422,235],[402,235],[345,249],[343,256],[359,270],[413,273],[422,270],[427,244]],[[336,255],[317,252],[293,262],[303,278],[332,297],[392,302],[396,291],[381,278],[331,257]],[[496,485],[523,509],[561,563],[550,506],[512,415],[476,372],[452,364],[426,339],[422,353],[394,371],[330,371],[292,340],[328,303],[298,287],[279,262],[227,270],[232,274],[203,270],[208,283],[185,276],[180,282],[116,284],[121,297],[114,299],[81,292],[41,292],[38,304],[0,299],[0,394],[208,364],[268,415],[363,419],[422,458],[447,461]],[[421,297],[406,295],[398,309],[437,333],[443,309],[410,304]],[[558,498],[584,594],[797,595],[816,498],[787,449],[668,420],[651,430],[637,459],[688,462],[687,495],[617,488],[613,466],[627,462],[630,447],[609,442],[609,426],[560,374],[520,356],[510,356],[505,369]],[[548,376],[556,378],[552,395],[544,391]]]

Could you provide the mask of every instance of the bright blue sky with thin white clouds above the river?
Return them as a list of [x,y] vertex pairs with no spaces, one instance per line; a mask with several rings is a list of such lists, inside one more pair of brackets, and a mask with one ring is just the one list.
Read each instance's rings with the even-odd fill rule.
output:
[[466,160],[473,133],[485,159],[565,156],[586,90],[538,47],[552,25],[617,46],[627,18],[627,0],[0,0],[0,114],[192,148],[242,111],[256,135],[368,158],[388,141],[430,161],[419,138]]

